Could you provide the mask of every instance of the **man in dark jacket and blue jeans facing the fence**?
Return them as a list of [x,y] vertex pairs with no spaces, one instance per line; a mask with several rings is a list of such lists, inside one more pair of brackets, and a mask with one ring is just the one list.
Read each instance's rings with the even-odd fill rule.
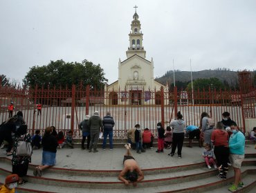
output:
[[103,117],[102,120],[103,123],[103,144],[102,148],[103,150],[106,149],[106,143],[107,143],[107,136],[109,136],[109,148],[110,150],[113,150],[113,126],[115,125],[115,121],[113,121],[113,117],[111,116],[110,112],[107,112],[107,116]]

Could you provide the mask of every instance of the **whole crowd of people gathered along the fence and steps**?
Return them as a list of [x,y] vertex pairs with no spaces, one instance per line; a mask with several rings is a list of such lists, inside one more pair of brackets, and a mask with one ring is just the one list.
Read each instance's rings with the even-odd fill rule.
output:
[[[242,134],[235,121],[230,119],[229,112],[223,112],[222,121],[215,124],[208,113],[201,113],[200,125],[185,125],[181,112],[176,114],[176,119],[171,120],[166,130],[162,123],[157,123],[157,153],[162,153],[170,149],[168,154],[171,157],[177,156],[182,158],[182,148],[185,136],[188,136],[188,148],[192,148],[192,140],[196,137],[199,141],[199,147],[204,146],[202,152],[205,164],[209,169],[214,167],[219,171],[217,177],[226,179],[228,173],[228,164],[232,164],[235,171],[235,182],[229,188],[230,191],[237,190],[237,187],[244,186],[241,181],[241,163],[244,160],[245,137]],[[18,126],[17,126],[18,125]],[[115,121],[110,112],[103,119],[99,116],[98,111],[95,111],[92,116],[86,115],[85,119],[78,125],[82,131],[81,149],[88,152],[98,152],[98,141],[100,133],[103,135],[102,150],[106,150],[107,137],[109,138],[109,149],[113,150],[113,127]],[[250,132],[250,139],[255,141],[256,128]],[[13,136],[13,134],[15,134]],[[66,136],[65,136],[66,134]],[[33,150],[42,150],[42,164],[35,167],[33,174],[42,176],[42,171],[48,167],[55,165],[57,148],[62,149],[64,145],[68,148],[73,148],[73,132],[68,130],[64,134],[63,131],[56,132],[54,126],[47,127],[44,130],[44,135],[40,136],[40,130],[35,130],[35,135],[32,137],[27,132],[23,114],[17,112],[15,116],[10,117],[7,121],[1,124],[0,144],[3,140],[8,142],[6,150],[7,156],[12,155],[12,174],[17,174],[17,185],[26,183],[28,171],[28,163],[31,162],[31,154],[19,155],[17,148],[19,141],[31,143]],[[127,152],[125,154],[124,170],[118,177],[126,185],[129,183],[137,184],[144,176],[138,167],[130,149],[136,150],[138,154],[146,152],[147,148],[153,148],[154,134],[145,128],[141,130],[140,125],[136,124],[134,128],[127,131],[128,144],[125,145]],[[87,143],[86,146],[84,143]],[[216,162],[214,159],[216,158]],[[133,171],[134,170],[134,171]],[[126,176],[126,177],[125,177]],[[7,183],[6,183],[7,184]],[[12,183],[12,185],[15,183]],[[11,187],[12,187],[11,185]]]

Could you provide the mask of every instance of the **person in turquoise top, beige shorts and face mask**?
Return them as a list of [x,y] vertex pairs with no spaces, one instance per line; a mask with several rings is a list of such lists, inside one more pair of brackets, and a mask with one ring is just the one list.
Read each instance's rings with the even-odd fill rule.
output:
[[244,134],[239,131],[237,124],[232,123],[230,128],[233,134],[230,136],[227,147],[230,150],[229,159],[235,172],[235,182],[228,190],[234,192],[237,190],[237,187],[244,187],[244,183],[241,181],[241,163],[244,161],[246,138]]

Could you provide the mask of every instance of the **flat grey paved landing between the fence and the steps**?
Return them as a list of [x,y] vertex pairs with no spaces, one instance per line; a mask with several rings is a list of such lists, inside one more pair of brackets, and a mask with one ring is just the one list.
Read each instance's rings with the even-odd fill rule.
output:
[[[99,152],[89,153],[88,150],[80,148],[68,149],[63,148],[57,150],[56,165],[54,167],[69,168],[75,170],[122,170],[122,159],[126,152],[125,148],[114,148],[113,150],[102,150]],[[183,147],[182,159],[178,157],[170,157],[167,154],[169,150],[163,153],[156,153],[156,148],[147,149],[145,153],[137,154],[136,150],[131,150],[134,158],[140,165],[141,169],[149,169],[156,167],[172,167],[177,165],[188,165],[192,163],[203,162],[201,152],[203,148]],[[256,153],[254,145],[246,145],[246,153]],[[11,159],[11,156],[8,157]],[[32,164],[40,165],[42,161],[42,149],[33,150]]]

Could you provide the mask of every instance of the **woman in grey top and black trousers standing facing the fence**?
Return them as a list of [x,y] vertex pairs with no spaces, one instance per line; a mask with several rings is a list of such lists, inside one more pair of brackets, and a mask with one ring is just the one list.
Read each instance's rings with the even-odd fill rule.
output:
[[170,122],[170,127],[173,128],[172,134],[172,151],[170,156],[174,157],[175,150],[178,146],[178,158],[181,158],[181,150],[183,146],[184,136],[185,136],[185,121],[182,119],[181,112],[177,113],[176,120]]

